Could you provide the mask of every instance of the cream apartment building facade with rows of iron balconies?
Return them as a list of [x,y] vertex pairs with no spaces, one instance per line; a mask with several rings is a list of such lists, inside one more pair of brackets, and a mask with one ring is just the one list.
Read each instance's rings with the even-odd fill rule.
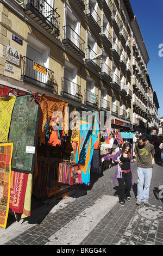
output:
[[4,0],[0,5],[1,88],[108,111],[111,127],[121,131],[149,129],[149,57],[133,32],[139,25],[129,0]]

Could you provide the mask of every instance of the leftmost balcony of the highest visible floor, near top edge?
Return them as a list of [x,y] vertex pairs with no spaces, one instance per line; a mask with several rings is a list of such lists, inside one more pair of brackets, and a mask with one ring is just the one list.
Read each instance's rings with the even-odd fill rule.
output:
[[101,18],[97,14],[95,8],[91,3],[86,5],[86,17],[89,19],[91,25],[99,33],[101,32]]

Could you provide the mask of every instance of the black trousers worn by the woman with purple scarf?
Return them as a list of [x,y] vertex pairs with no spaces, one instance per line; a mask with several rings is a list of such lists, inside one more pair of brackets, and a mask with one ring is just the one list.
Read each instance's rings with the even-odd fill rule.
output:
[[131,172],[122,173],[122,179],[118,178],[119,183],[119,198],[120,202],[125,202],[124,199],[126,197],[130,197],[130,190],[132,187],[131,183]]

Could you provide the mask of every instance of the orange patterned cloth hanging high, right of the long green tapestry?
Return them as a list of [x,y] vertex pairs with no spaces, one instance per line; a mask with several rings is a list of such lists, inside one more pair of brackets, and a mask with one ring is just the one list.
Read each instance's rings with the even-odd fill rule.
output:
[[[39,143],[45,143],[46,139],[46,130],[45,130],[45,124],[49,117],[53,116],[53,113],[58,111],[59,120],[63,120],[63,125],[65,123],[65,107],[68,106],[68,103],[65,101],[59,100],[55,97],[47,96],[47,95],[41,95],[40,99],[40,117],[39,117],[39,127],[38,127],[38,137],[39,137]],[[62,117],[61,117],[62,115]],[[49,125],[53,125],[53,119],[51,119],[51,122]],[[64,127],[63,127],[64,129]]]

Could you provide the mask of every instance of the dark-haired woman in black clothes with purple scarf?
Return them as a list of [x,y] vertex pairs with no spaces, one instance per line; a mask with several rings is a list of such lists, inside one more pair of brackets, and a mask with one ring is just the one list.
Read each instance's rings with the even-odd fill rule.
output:
[[118,151],[112,159],[112,162],[117,163],[114,182],[118,180],[121,206],[124,206],[125,198],[127,201],[130,201],[130,190],[134,184],[133,174],[131,173],[131,163],[135,161],[131,154],[130,143],[128,142],[123,144],[122,151]]

